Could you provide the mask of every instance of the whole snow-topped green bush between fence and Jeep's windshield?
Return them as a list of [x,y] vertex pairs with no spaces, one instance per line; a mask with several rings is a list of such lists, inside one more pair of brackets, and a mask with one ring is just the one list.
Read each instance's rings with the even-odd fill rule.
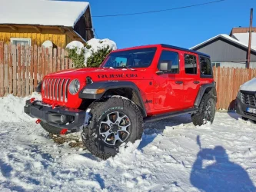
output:
[[75,68],[98,67],[108,53],[116,50],[114,41],[92,38],[84,46],[80,41],[71,41],[66,49],[68,58],[74,62]]

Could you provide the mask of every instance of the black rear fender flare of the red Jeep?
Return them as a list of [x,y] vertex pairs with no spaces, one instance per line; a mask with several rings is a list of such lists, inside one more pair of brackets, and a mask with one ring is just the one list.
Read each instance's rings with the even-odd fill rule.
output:
[[214,96],[215,101],[217,102],[217,91],[216,91],[216,87],[215,84],[202,84],[199,91],[198,91],[198,96],[194,101],[194,108],[199,108],[199,104],[201,103],[201,99],[204,96],[204,93],[209,93],[211,92],[211,94]]

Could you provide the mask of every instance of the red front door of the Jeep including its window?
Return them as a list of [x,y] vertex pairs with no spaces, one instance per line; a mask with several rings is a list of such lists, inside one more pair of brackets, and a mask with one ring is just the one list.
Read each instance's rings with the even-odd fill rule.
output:
[[181,71],[180,53],[164,49],[158,61],[168,63],[168,70],[155,78],[154,108],[159,112],[178,111],[185,108],[185,92]]

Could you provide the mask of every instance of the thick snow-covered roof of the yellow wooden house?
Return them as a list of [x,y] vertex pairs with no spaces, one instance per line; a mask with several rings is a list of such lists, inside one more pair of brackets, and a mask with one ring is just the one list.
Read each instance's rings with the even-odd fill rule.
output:
[[74,27],[88,2],[0,0],[0,24]]

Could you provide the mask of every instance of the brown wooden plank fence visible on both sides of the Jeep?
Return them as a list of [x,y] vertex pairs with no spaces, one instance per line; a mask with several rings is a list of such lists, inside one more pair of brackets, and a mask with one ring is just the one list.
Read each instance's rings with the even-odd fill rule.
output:
[[[71,59],[62,48],[20,46],[0,42],[0,97],[13,94],[25,97],[35,91],[45,74],[73,68]],[[234,109],[238,89],[256,76],[256,69],[215,68],[217,109]]]

